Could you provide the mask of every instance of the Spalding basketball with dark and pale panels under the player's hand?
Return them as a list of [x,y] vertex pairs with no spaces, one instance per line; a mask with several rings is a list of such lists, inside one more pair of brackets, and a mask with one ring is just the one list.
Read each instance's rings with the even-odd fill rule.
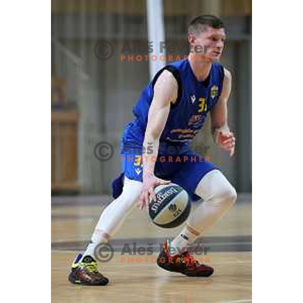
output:
[[163,228],[182,224],[190,212],[188,193],[177,184],[155,187],[157,200],[149,198],[149,217],[153,223]]

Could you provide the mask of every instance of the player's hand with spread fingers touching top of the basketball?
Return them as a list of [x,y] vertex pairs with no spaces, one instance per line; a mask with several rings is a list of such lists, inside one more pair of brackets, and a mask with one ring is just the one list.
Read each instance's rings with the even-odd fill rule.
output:
[[141,189],[141,194],[138,200],[138,207],[140,210],[143,210],[145,206],[148,205],[149,202],[149,195],[153,200],[156,201],[156,194],[154,192],[154,188],[161,184],[169,184],[171,181],[162,180],[160,178],[155,177],[154,175],[148,177],[147,179],[143,180],[143,186]]

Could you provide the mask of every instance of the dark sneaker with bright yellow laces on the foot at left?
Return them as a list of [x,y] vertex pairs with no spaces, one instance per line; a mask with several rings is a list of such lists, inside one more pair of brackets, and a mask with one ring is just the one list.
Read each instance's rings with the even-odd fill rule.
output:
[[109,279],[98,272],[98,264],[91,256],[79,254],[72,264],[68,280],[73,284],[87,286],[105,286]]

